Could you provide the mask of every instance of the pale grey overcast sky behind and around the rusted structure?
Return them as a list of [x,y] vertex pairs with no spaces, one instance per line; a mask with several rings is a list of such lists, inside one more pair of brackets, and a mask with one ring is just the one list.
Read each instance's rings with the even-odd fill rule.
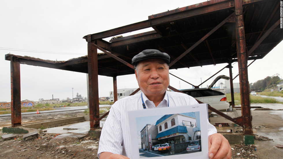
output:
[[[147,20],[152,14],[202,1],[204,0],[0,0],[0,101],[11,101],[10,61],[5,60],[5,54],[32,56],[46,60],[68,60],[84,56],[87,54],[87,42],[82,37],[87,34]],[[152,29],[145,31],[148,30]],[[127,33],[124,36],[136,33]],[[109,39],[111,38],[105,40],[109,41]],[[282,48],[281,42],[265,58],[256,60],[248,68],[250,83],[276,73],[279,73],[282,78]],[[170,72],[198,85],[226,65],[172,69]],[[234,77],[238,73],[238,64],[234,63],[233,67]],[[218,75],[221,74],[229,76],[229,69],[218,73]],[[215,77],[202,86],[211,84]],[[99,96],[109,96],[109,91],[113,91],[112,77],[99,76],[98,82]],[[221,82],[224,83],[224,81]],[[239,77],[234,82],[239,82]],[[117,84],[118,89],[138,88],[134,75],[118,76]],[[170,85],[178,89],[192,88],[191,85],[171,75]],[[74,88],[74,97],[76,93],[87,96],[85,73],[21,65],[21,100],[51,99],[52,94],[54,98],[72,98],[72,88]]]

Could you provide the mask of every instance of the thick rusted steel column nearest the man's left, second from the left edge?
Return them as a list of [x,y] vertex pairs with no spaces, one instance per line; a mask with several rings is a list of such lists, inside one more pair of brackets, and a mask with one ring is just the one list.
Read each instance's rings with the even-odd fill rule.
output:
[[91,42],[91,35],[87,35],[87,70],[90,101],[90,130],[100,128],[99,96],[98,96],[98,62],[97,47]]

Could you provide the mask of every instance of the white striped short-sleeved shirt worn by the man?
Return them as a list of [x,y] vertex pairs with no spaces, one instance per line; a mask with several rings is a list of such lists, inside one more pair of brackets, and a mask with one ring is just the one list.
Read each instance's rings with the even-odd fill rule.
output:
[[[142,93],[142,98],[146,108],[150,109],[168,107],[167,101],[169,101],[169,107],[198,104],[193,97],[179,92],[166,91],[163,101],[161,101],[157,107],[155,107],[152,101],[148,100],[144,93]],[[132,110],[144,109],[142,106],[142,98],[141,93],[138,93],[120,99],[112,105],[101,132],[97,152],[98,158],[101,152],[111,152],[113,154],[121,154],[131,158],[131,147],[129,143],[130,126],[127,113]],[[217,133],[217,130],[213,125],[208,124],[207,128],[208,135]]]

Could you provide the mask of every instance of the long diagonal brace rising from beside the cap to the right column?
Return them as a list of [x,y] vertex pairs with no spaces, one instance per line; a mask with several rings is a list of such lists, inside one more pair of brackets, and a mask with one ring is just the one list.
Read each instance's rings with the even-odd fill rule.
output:
[[191,50],[193,50],[196,46],[198,46],[198,44],[200,44],[202,41],[204,41],[207,37],[209,37],[212,33],[214,33],[217,29],[219,29],[223,24],[226,23],[226,20],[228,20],[229,18],[231,18],[234,15],[234,13],[232,13],[230,16],[228,16],[227,18],[225,18],[222,22],[220,22],[217,26],[215,26],[215,28],[213,28],[211,31],[209,31],[206,35],[204,35],[204,37],[202,37],[199,41],[197,41],[195,44],[193,44],[193,46],[191,46],[188,50],[186,50],[183,54],[181,54],[179,57],[177,57],[175,60],[173,60],[170,64],[169,67],[171,67],[172,65],[174,65],[178,60],[180,60],[181,58],[183,58],[186,54],[188,54]]

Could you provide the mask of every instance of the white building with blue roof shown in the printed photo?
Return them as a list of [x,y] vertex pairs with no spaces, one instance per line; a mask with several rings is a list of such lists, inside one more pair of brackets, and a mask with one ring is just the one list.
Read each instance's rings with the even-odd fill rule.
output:
[[193,132],[197,126],[194,112],[165,115],[157,120],[155,126],[160,143],[183,143],[193,140],[194,135],[195,139],[200,138],[200,132]]

